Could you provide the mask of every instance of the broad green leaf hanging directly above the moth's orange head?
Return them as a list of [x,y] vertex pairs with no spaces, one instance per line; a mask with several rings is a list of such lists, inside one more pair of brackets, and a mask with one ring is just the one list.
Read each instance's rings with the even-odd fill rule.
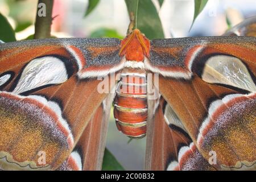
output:
[[162,23],[152,1],[125,0],[134,28],[141,30],[149,39],[164,38]]

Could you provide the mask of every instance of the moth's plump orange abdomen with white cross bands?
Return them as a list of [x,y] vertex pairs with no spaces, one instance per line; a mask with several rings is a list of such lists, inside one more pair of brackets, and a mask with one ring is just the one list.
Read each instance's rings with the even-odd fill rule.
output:
[[125,68],[114,98],[117,128],[131,138],[146,135],[147,78],[144,69]]

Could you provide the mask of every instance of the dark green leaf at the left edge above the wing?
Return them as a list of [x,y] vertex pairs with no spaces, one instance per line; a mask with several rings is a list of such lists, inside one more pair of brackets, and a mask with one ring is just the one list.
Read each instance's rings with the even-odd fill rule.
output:
[[15,32],[11,27],[8,20],[0,13],[0,40],[3,42],[14,42],[15,39]]

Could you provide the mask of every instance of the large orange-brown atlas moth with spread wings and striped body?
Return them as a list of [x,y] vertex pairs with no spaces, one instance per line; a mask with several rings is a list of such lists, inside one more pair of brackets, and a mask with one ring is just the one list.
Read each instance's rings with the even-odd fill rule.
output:
[[242,36],[255,22],[229,36],[0,44],[0,168],[101,169],[113,102],[118,130],[147,137],[145,169],[255,169],[256,38]]

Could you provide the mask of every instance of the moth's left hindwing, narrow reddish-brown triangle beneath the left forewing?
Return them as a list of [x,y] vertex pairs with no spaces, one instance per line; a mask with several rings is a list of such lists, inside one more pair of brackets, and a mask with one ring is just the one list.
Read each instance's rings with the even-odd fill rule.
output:
[[101,170],[112,101],[113,94],[105,98],[88,122],[73,152],[58,170]]

